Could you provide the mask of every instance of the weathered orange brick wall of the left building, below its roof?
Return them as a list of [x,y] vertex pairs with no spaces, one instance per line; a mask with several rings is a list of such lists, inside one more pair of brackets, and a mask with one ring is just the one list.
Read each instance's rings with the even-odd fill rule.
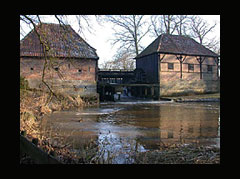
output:
[[[97,61],[92,59],[51,59],[47,61],[45,81],[57,92],[70,95],[95,96]],[[42,84],[44,59],[21,58],[20,75],[31,88]],[[52,68],[49,68],[49,67]]]

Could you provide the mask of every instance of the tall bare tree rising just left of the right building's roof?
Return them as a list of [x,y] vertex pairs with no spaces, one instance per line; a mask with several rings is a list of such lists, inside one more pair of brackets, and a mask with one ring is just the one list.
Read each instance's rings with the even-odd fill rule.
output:
[[142,49],[140,42],[150,31],[144,15],[107,15],[105,21],[114,25],[113,45],[119,43],[121,45],[119,49],[126,49],[138,55]]

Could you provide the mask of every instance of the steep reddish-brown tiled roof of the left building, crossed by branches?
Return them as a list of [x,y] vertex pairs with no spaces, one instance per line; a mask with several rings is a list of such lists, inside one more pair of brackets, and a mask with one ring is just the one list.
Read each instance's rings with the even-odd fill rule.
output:
[[[49,56],[98,59],[96,49],[83,40],[70,25],[42,23],[37,26],[37,32],[50,47]],[[20,56],[43,56],[42,46],[34,30],[21,40]]]

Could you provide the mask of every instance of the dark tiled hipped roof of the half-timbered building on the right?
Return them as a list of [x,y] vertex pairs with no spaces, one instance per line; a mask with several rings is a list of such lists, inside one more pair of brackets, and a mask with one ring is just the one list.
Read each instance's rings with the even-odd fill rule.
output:
[[155,39],[147,48],[145,48],[136,58],[140,58],[156,52],[193,56],[219,56],[190,37],[182,35],[162,34],[157,39]]

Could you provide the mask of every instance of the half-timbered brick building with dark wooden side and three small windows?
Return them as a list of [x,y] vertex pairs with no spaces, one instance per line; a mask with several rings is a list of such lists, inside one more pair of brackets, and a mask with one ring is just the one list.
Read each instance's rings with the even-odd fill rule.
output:
[[135,59],[154,95],[219,91],[219,55],[189,37],[162,34]]

